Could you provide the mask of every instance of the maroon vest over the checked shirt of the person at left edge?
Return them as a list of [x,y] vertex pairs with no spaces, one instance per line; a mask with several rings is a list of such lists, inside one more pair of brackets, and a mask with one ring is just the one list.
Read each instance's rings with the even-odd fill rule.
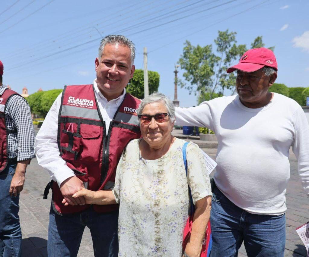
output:
[[0,95],[0,172],[2,172],[6,168],[8,162],[8,156],[7,156],[8,134],[17,132],[8,130],[6,128],[6,121],[5,121],[6,103],[11,96],[18,94],[19,93],[16,93],[11,89],[5,89],[3,94]]

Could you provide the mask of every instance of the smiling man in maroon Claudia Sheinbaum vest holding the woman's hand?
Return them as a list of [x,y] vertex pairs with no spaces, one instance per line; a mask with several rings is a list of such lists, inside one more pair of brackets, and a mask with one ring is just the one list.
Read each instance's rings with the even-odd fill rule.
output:
[[[118,205],[87,205],[72,195],[83,187],[110,189],[126,144],[140,138],[135,110],[140,100],[126,93],[134,73],[135,47],[121,35],[102,39],[91,85],[65,86],[36,136],[38,163],[52,188],[48,255],[76,256],[87,226],[95,256],[118,255]],[[63,204],[63,200],[69,203]]]

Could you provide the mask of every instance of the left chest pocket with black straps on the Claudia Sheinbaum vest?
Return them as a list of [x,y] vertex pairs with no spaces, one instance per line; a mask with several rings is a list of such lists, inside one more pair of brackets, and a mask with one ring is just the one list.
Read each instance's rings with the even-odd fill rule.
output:
[[80,141],[81,135],[74,133],[74,125],[70,123],[66,130],[63,129],[61,131],[60,135],[60,151],[62,158],[66,160],[76,160],[80,150]]

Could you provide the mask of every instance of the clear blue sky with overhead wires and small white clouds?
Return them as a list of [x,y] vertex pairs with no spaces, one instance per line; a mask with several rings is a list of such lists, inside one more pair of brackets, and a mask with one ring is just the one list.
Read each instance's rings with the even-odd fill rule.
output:
[[[261,35],[266,47],[275,46],[277,83],[307,87],[308,11],[307,0],[1,1],[3,83],[19,93],[24,86],[34,93],[90,84],[101,36],[122,34],[136,44],[136,68],[143,67],[147,47],[148,69],[160,74],[159,91],[173,99],[174,65],[185,40],[205,46],[229,29],[238,44],[249,47]],[[197,97],[178,88],[178,100],[193,106]]]

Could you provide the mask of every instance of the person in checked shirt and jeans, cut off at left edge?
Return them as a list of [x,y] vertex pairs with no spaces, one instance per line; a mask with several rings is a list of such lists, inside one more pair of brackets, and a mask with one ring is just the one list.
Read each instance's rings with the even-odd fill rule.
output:
[[[3,64],[0,61],[0,97],[7,89],[6,85],[2,85],[2,75]],[[9,97],[5,108],[3,104],[0,107],[6,126],[6,130],[0,128],[0,141],[6,133],[8,158],[6,167],[3,165],[0,169],[0,255],[20,256],[19,193],[23,190],[26,167],[34,156],[34,129],[29,105],[19,94]],[[1,149],[0,160],[3,160],[5,153]]]

